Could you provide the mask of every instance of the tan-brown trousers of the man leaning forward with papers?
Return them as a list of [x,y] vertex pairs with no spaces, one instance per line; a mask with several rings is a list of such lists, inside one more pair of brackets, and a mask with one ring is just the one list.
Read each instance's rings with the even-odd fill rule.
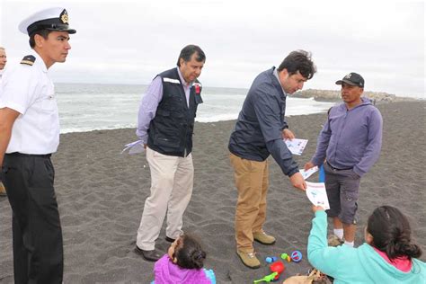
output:
[[230,154],[238,200],[235,210],[235,240],[240,252],[253,253],[253,233],[262,230],[266,219],[268,162],[250,161]]

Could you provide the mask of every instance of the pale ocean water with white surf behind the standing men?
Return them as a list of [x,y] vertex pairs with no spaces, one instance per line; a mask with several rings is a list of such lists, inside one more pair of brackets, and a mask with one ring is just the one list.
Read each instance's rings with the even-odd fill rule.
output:
[[[146,85],[56,84],[61,133],[94,129],[136,128],[138,107]],[[197,121],[235,120],[246,89],[203,87]],[[287,98],[286,115],[325,112],[333,102]]]

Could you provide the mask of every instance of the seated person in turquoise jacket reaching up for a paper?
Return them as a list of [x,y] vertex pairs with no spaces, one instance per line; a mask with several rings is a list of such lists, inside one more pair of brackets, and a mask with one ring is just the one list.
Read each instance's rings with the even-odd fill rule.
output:
[[313,207],[315,217],[307,241],[307,257],[334,283],[426,283],[422,249],[413,244],[408,219],[400,210],[382,206],[368,217],[366,243],[358,248],[327,245],[327,215]]

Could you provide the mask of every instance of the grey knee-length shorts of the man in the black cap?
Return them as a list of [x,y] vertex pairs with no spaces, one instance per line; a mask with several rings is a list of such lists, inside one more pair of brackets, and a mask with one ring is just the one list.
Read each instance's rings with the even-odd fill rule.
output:
[[339,217],[344,224],[357,224],[357,201],[360,177],[353,170],[333,169],[324,163],[325,189],[330,209],[329,217]]

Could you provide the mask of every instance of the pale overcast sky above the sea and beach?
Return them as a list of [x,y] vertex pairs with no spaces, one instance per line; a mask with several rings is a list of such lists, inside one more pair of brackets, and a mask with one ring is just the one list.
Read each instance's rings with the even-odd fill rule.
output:
[[354,71],[366,90],[424,97],[422,1],[0,0],[0,45],[9,64],[29,49],[23,18],[64,6],[72,49],[51,68],[55,82],[149,84],[197,44],[207,56],[206,86],[248,88],[294,49],[313,53],[317,74],[306,88],[338,90]]

